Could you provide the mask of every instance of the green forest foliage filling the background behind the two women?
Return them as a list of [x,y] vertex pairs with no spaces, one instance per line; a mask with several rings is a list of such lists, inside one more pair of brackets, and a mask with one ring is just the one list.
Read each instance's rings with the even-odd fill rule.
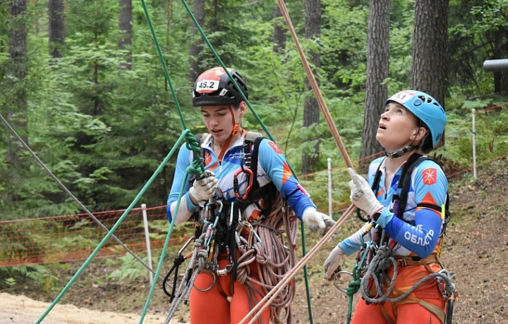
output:
[[[302,1],[289,1],[291,20],[303,50],[320,54],[315,68],[327,107],[351,158],[359,156],[365,99],[366,35],[368,1],[323,0],[319,38],[305,40]],[[311,152],[316,135],[320,142],[317,170],[343,164],[324,120],[302,129],[303,104],[313,93],[305,86],[306,74],[296,46],[287,37],[280,53],[273,51],[273,13],[276,4],[266,1],[207,1],[203,26],[217,53],[227,66],[245,77],[253,109],[272,132],[295,170],[301,155]],[[200,116],[191,104],[188,50],[200,41],[191,20],[178,1],[148,2],[148,10],[169,68],[174,92],[187,127],[204,131]],[[392,1],[390,32],[390,70],[385,82],[389,93],[410,84],[411,32],[414,0]],[[495,55],[496,49],[508,56],[506,0],[450,1],[447,112],[447,145],[438,151],[456,166],[470,165],[471,108],[483,108],[506,101],[487,96],[492,92],[492,75],[481,70],[481,63]],[[66,42],[63,57],[49,57],[47,17],[44,1],[28,6],[28,75],[13,80],[9,74],[9,26],[6,6],[0,6],[0,111],[28,96],[28,144],[54,175],[75,197],[93,211],[125,208],[159,166],[182,131],[169,85],[162,73],[143,8],[133,2],[132,45],[118,48],[117,1],[69,1],[66,6]],[[282,18],[277,18],[282,21]],[[500,46],[496,47],[496,39]],[[501,46],[502,45],[502,46]],[[131,55],[131,69],[122,68]],[[498,54],[499,55],[499,54]],[[308,57],[309,58],[309,57]],[[311,60],[309,60],[311,61]],[[210,50],[203,46],[198,57],[202,69],[217,66]],[[490,117],[495,116],[495,117]],[[504,111],[478,116],[478,151],[490,158],[506,147]],[[249,130],[261,130],[253,113],[243,120]],[[71,214],[79,211],[61,188],[24,151],[19,166],[6,161],[12,137],[0,132],[0,211],[3,219]],[[150,206],[164,204],[174,172],[171,158],[143,197]],[[344,170],[337,170],[344,173]],[[304,180],[319,204],[325,204],[326,178],[321,175]],[[334,175],[334,185],[344,179]],[[340,183],[339,183],[340,182]],[[334,194],[335,195],[335,194]],[[346,201],[339,192],[337,201]],[[322,206],[320,206],[321,208]],[[83,227],[94,225],[78,224]],[[167,224],[154,225],[164,236]],[[158,228],[160,226],[160,228]],[[20,244],[23,251],[28,246]],[[40,248],[37,244],[32,247]],[[67,244],[93,246],[92,239],[76,238]],[[5,252],[7,253],[7,252]]]

